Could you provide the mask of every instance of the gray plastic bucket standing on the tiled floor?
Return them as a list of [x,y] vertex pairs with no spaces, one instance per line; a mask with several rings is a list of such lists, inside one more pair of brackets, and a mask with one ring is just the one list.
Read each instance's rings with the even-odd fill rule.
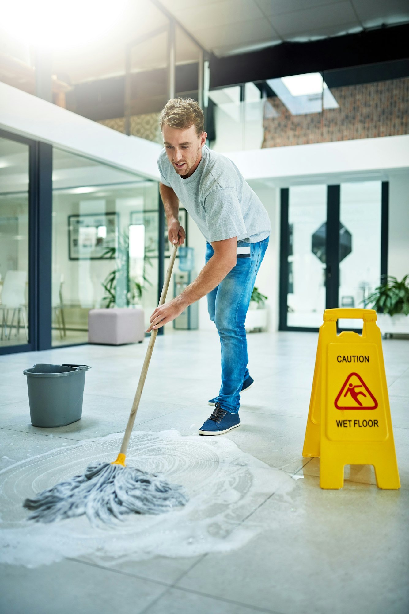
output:
[[81,418],[87,365],[33,365],[24,369],[32,426],[66,426]]

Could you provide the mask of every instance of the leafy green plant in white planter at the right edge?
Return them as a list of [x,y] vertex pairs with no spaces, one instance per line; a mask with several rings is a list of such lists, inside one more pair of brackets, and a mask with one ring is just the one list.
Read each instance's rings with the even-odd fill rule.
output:
[[383,276],[366,304],[377,311],[383,335],[409,334],[409,274],[401,281],[392,275]]

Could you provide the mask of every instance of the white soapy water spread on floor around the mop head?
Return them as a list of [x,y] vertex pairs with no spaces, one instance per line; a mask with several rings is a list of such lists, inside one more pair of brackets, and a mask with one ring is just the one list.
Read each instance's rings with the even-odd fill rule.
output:
[[228,438],[139,431],[130,440],[127,465],[182,484],[189,495],[185,507],[127,516],[114,527],[92,527],[85,516],[51,524],[28,521],[26,497],[83,473],[90,461],[111,461],[121,440],[116,433],[82,441],[0,472],[0,562],[37,567],[81,557],[112,565],[230,551],[266,528],[252,521],[252,512],[273,493],[286,497],[295,485],[287,473],[243,453]]

